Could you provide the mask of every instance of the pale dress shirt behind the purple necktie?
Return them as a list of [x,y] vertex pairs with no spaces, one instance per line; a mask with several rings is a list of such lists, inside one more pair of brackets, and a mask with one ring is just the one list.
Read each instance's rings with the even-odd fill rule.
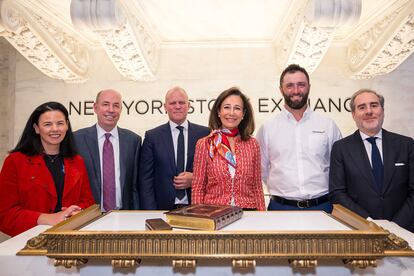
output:
[[[99,162],[101,164],[101,206],[103,206],[103,160],[102,160],[102,151],[103,151],[103,144],[105,142],[105,131],[101,128],[98,124],[96,124],[96,129],[98,133],[98,146],[99,146]],[[112,143],[114,148],[114,158],[115,158],[115,191],[116,191],[116,209],[122,208],[122,192],[121,192],[121,168],[119,165],[119,135],[118,135],[118,128],[115,127],[109,133],[111,133],[111,137],[109,140]]]

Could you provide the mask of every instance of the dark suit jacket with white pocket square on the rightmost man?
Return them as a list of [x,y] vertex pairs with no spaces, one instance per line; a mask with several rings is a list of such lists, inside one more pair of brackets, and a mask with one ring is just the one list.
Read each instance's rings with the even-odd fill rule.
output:
[[379,191],[359,131],[337,141],[331,152],[331,202],[365,218],[394,221],[413,231],[414,141],[382,130],[382,152],[384,183]]

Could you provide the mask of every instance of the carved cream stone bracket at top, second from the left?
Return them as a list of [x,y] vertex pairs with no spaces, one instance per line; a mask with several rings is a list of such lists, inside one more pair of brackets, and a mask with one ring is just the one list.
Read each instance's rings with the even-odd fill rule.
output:
[[155,80],[158,44],[127,3],[74,0],[71,2],[72,21],[78,28],[89,29],[98,35],[122,76],[134,81]]

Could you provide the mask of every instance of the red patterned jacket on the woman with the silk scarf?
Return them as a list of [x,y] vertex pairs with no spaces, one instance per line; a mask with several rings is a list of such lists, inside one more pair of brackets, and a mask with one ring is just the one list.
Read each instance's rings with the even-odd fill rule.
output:
[[[253,137],[247,141],[236,137],[234,144],[237,164],[235,204],[242,208],[265,210],[259,144]],[[228,163],[218,154],[210,158],[207,137],[197,142],[193,166],[192,203],[230,205],[232,179]]]

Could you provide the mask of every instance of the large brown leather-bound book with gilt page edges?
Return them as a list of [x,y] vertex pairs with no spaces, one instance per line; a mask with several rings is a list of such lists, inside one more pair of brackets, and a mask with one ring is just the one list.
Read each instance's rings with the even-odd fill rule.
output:
[[237,206],[194,204],[165,213],[172,227],[218,230],[240,219],[243,210]]

